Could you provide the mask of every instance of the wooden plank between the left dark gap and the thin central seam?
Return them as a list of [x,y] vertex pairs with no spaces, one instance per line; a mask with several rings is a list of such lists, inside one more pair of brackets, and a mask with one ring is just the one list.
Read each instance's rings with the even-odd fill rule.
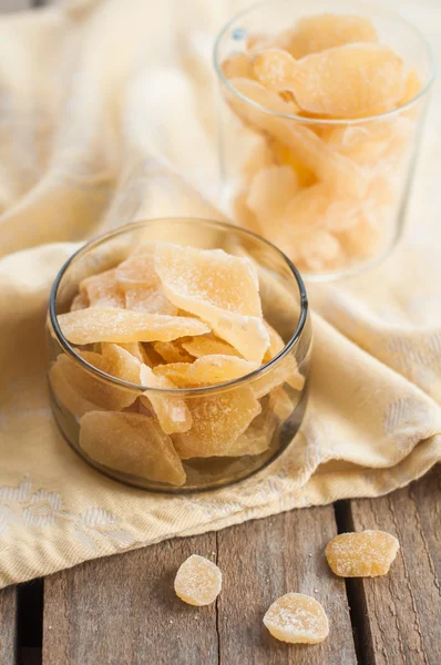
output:
[[191,607],[173,589],[192,553],[213,559],[216,535],[167,541],[48,577],[43,665],[217,665],[215,605]]

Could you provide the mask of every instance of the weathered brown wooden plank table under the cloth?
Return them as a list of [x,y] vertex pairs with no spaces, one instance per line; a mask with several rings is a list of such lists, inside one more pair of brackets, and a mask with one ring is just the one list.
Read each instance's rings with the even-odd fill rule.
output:
[[[0,10],[29,4],[0,0]],[[440,489],[439,466],[389,497],[175,539],[1,591],[0,665],[441,665]],[[328,540],[377,528],[401,543],[390,574],[335,577]],[[208,607],[184,605],[173,592],[176,569],[194,552],[223,571]],[[287,591],[322,602],[325,643],[289,646],[263,627]]]

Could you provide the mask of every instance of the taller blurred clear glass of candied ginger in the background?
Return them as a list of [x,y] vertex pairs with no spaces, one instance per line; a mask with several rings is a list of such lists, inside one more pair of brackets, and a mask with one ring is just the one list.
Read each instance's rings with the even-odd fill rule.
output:
[[[296,115],[293,98],[270,99],[247,79],[252,70],[237,54],[253,58],[296,20],[320,13],[371,21],[379,43],[407,68],[402,105],[356,119]],[[227,23],[214,61],[225,212],[283,249],[306,279],[356,274],[384,258],[402,232],[433,80],[431,50],[418,30],[370,2],[269,0]]]

